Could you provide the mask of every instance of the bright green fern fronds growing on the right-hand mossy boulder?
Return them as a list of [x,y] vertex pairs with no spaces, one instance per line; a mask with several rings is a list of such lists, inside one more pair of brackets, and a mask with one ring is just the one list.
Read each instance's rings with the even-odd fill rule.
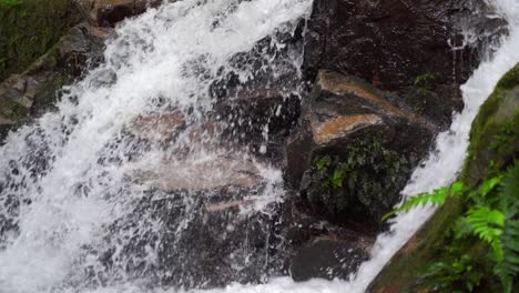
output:
[[[454,239],[445,250],[455,251],[454,247],[459,246],[464,239],[479,239],[488,247],[489,256],[477,256],[488,257],[486,262],[493,263],[493,273],[501,281],[503,292],[511,292],[513,279],[519,275],[519,161],[505,174],[486,180],[475,189],[455,183],[450,188],[414,196],[385,219],[419,205],[442,205],[448,196],[465,199],[467,212],[451,225]],[[429,264],[421,276],[436,290],[456,292],[455,289],[461,282],[471,292],[479,284],[484,270],[469,265],[470,255],[466,252],[457,251],[454,256],[451,254],[446,254],[447,260]]]

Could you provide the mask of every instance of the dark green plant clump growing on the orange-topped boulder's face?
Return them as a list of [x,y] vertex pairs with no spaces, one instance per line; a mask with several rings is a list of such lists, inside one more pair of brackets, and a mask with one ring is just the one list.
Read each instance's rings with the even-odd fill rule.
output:
[[307,198],[326,213],[369,215],[375,222],[390,211],[410,172],[409,161],[379,139],[354,140],[342,155],[314,161]]

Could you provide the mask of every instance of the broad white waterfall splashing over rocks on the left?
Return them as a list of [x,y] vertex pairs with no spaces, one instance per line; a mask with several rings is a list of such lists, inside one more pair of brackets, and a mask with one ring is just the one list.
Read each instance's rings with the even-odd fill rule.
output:
[[[266,270],[268,233],[240,230],[251,216],[271,221],[283,184],[262,160],[273,123],[248,121],[260,105],[240,99],[275,92],[271,120],[298,102],[302,46],[291,38],[311,7],[185,0],[119,26],[104,63],[1,146],[0,292],[208,286],[220,280],[197,275],[204,257],[224,253],[234,263],[218,273],[231,281]],[[260,141],[244,143],[254,131]],[[222,215],[234,216],[225,226],[211,226],[213,214],[236,206]],[[243,239],[221,246],[236,251],[208,252],[201,239],[210,233]]]

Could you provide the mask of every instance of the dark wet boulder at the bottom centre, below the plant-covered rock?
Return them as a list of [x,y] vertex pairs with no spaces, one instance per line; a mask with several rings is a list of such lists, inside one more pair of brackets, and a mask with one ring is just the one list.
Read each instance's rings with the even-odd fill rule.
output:
[[284,267],[295,281],[347,279],[369,257],[374,231],[339,228],[312,216],[295,196],[283,209]]

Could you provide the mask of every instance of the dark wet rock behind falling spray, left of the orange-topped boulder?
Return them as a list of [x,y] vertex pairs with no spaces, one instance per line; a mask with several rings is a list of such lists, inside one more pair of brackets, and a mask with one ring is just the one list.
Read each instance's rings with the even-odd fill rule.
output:
[[304,89],[294,57],[302,53],[303,24],[234,55],[211,85],[214,117],[225,140],[273,162],[283,162],[285,140],[299,117]]

